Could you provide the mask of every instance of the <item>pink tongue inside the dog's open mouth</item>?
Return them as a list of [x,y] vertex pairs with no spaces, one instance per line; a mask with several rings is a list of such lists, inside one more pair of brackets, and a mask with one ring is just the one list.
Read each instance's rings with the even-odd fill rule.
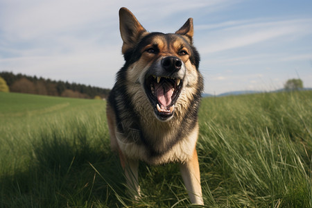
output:
[[173,86],[169,83],[155,83],[156,96],[159,104],[167,107],[171,104],[171,96],[173,94]]

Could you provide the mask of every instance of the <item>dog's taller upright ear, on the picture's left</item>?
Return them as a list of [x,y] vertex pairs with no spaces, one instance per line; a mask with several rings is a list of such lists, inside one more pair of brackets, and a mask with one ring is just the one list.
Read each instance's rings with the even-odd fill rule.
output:
[[141,37],[143,33],[146,33],[146,30],[141,26],[139,21],[137,21],[135,15],[133,15],[128,8],[124,7],[119,10],[119,30],[121,39],[123,40],[123,54],[125,51],[135,46],[139,37]]

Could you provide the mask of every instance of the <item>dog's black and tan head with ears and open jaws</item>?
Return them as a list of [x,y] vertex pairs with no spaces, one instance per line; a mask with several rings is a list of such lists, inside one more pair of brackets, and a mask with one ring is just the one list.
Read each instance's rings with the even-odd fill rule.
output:
[[127,8],[119,10],[119,20],[127,82],[139,84],[157,119],[168,121],[175,108],[180,108],[176,107],[179,102],[184,105],[192,99],[201,79],[200,58],[193,47],[193,19],[169,34],[148,33]]

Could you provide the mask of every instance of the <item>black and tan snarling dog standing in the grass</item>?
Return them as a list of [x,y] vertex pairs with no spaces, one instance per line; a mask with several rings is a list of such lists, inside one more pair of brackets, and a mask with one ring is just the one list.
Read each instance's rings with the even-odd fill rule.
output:
[[123,67],[107,98],[112,150],[127,185],[141,196],[139,161],[180,164],[193,204],[203,205],[196,151],[203,78],[193,46],[193,19],[175,33],[149,33],[127,8],[119,10]]

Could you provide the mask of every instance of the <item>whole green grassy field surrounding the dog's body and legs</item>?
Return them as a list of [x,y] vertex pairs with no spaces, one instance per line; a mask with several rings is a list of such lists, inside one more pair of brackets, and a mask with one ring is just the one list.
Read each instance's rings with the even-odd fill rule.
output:
[[[204,98],[207,207],[312,207],[312,92]],[[177,164],[140,164],[125,191],[105,102],[0,93],[0,207],[191,207]]]

